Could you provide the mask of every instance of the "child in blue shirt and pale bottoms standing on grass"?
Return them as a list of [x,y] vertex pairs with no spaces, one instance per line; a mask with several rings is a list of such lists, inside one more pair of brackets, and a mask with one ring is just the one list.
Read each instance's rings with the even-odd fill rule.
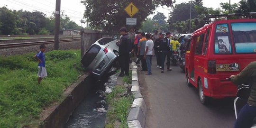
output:
[[46,61],[45,61],[45,52],[46,51],[46,46],[41,45],[40,46],[40,51],[34,55],[33,58],[37,59],[38,63],[38,84],[40,84],[41,80],[47,76],[46,73]]

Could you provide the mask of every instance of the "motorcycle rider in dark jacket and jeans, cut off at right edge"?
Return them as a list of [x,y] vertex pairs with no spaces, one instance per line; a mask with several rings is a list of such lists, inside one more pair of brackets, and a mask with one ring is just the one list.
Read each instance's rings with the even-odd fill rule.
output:
[[230,80],[237,85],[248,84],[250,86],[247,104],[240,110],[234,126],[234,128],[250,128],[256,117],[256,61],[248,64],[238,75],[231,75]]

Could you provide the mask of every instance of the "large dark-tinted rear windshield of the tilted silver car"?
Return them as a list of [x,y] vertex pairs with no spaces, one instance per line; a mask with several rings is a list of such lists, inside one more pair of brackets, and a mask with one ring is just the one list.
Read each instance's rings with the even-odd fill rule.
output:
[[83,67],[88,67],[91,64],[91,62],[94,60],[94,58],[98,55],[100,50],[101,50],[101,47],[98,45],[91,46],[91,48],[82,57],[81,62],[83,64]]

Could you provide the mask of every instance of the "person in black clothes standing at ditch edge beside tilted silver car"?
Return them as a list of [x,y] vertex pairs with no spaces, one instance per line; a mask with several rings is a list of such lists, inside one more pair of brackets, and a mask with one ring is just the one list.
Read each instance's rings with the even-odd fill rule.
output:
[[121,27],[119,30],[120,34],[122,35],[120,42],[117,42],[117,46],[119,46],[119,64],[121,68],[121,73],[118,76],[129,75],[129,45],[130,45],[130,38],[127,34],[126,27]]

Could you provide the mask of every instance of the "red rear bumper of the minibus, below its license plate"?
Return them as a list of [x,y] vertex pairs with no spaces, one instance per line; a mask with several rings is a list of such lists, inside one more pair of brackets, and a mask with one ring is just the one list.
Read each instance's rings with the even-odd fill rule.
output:
[[[204,94],[212,98],[235,97],[237,86],[230,81],[220,81],[219,78],[204,78]],[[205,83],[207,82],[207,83]],[[208,84],[208,89],[207,86]]]

